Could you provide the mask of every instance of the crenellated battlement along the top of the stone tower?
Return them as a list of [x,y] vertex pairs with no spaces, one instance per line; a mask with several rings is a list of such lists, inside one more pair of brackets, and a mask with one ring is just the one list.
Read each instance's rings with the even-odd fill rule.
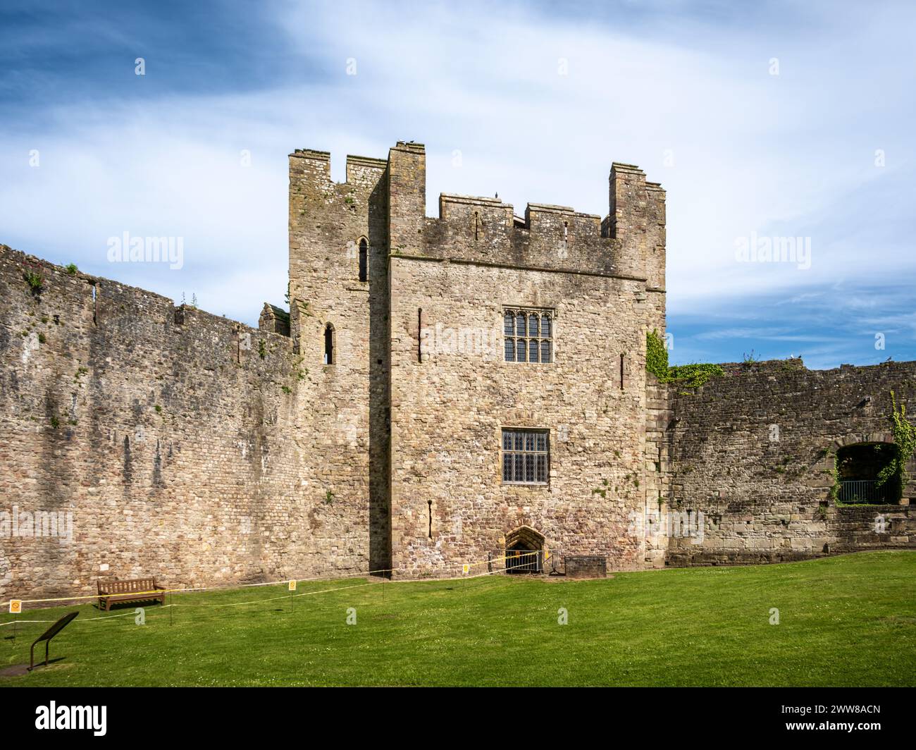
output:
[[[426,149],[412,141],[398,141],[387,160],[348,156],[345,182],[331,180],[330,164],[327,151],[290,154],[290,226],[310,214],[324,217],[322,227],[352,223],[354,213],[387,214],[387,247],[378,247],[381,232],[374,243],[386,255],[598,273],[642,279],[649,291],[664,291],[665,193],[634,164],[612,163],[604,218],[538,203],[527,204],[519,216],[497,197],[457,193],[441,193],[439,215],[427,216]],[[336,241],[354,242],[358,236]],[[290,247],[298,249],[295,243]],[[296,275],[291,272],[291,280]]]

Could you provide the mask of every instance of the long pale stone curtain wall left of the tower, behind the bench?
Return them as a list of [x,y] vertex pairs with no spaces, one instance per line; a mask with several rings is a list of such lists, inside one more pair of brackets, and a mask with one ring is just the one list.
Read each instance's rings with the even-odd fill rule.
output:
[[0,246],[0,597],[365,570],[365,509],[316,499],[289,348]]

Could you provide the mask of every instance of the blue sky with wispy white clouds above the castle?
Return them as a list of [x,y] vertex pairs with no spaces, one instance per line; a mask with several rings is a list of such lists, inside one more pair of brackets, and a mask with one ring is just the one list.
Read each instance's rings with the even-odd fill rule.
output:
[[[423,142],[430,215],[606,215],[618,160],[668,192],[673,363],[916,359],[914,30],[908,3],[5,2],[0,242],[256,324],[293,149],[343,180]],[[183,267],[110,263],[125,231],[183,237]]]

